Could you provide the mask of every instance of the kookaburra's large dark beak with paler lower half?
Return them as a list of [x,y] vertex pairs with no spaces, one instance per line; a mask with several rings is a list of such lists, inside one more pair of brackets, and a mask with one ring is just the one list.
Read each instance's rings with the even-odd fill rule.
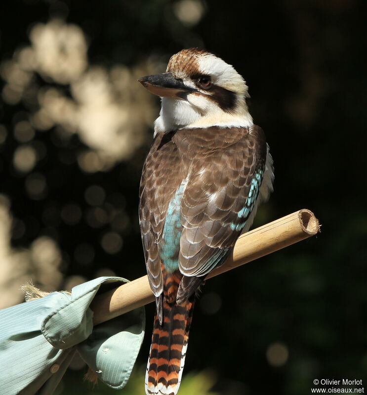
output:
[[197,89],[187,87],[182,80],[177,79],[171,72],[139,78],[144,88],[161,97],[177,97],[186,99],[188,93]]

